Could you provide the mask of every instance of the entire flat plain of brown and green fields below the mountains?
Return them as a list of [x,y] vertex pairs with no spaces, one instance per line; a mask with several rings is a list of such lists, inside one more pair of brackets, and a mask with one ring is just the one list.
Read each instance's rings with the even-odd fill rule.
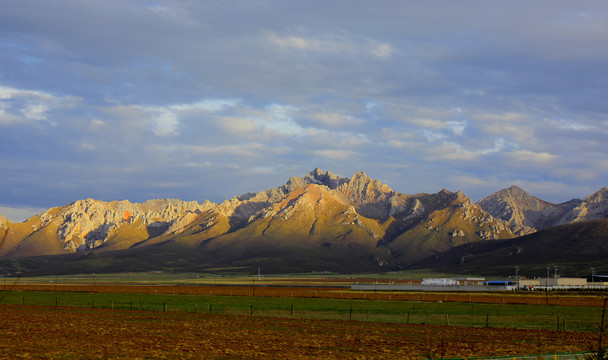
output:
[[[408,278],[411,274],[391,281]],[[563,306],[558,304],[568,302],[558,300],[567,297],[576,304],[578,299],[581,305],[593,298],[597,303],[604,294],[551,294],[546,300],[554,305],[546,305],[544,294],[533,292],[414,295],[347,287],[390,279],[200,273],[4,278],[0,354],[49,359],[469,358],[585,351],[597,339],[601,307]],[[46,291],[19,290],[26,288]],[[243,294],[237,290],[256,296],[236,296]],[[534,301],[510,303],[527,297]]]

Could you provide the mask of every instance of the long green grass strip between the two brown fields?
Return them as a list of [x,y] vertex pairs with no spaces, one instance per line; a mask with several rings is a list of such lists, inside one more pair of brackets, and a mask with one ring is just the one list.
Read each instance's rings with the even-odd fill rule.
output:
[[596,329],[602,312],[571,306],[45,291],[3,291],[0,303],[587,332]]

